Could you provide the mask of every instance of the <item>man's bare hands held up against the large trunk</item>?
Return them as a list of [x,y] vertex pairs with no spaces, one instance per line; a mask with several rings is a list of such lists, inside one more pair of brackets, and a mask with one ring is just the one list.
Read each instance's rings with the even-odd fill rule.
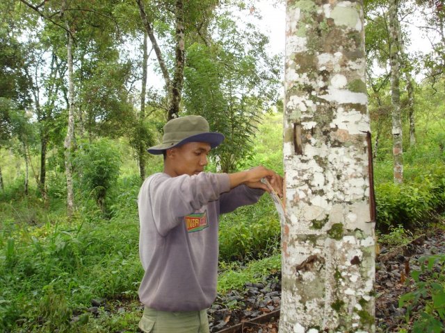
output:
[[254,167],[248,171],[241,171],[237,173],[230,173],[230,187],[236,187],[245,184],[252,189],[264,189],[270,192],[270,188],[261,182],[261,178],[266,178],[273,190],[282,197],[283,196],[283,178],[275,173],[275,171],[265,167]]

